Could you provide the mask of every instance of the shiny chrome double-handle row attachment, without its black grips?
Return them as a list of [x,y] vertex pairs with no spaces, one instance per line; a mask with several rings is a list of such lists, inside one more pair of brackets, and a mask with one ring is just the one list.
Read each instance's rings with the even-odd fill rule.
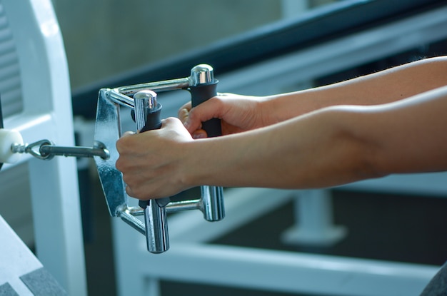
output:
[[[169,249],[169,233],[167,213],[181,210],[201,210],[208,221],[218,221],[224,218],[224,198],[221,187],[201,186],[201,198],[170,203],[169,198],[150,200],[148,205],[141,203],[140,208],[129,208],[125,184],[121,172],[116,169],[115,163],[119,157],[116,150],[116,141],[121,136],[121,121],[119,107],[125,106],[134,109],[136,130],[141,131],[146,126],[147,116],[153,108],[161,108],[156,102],[156,91],[173,91],[216,83],[213,68],[201,64],[191,69],[191,76],[141,83],[133,86],[118,88],[102,88],[99,91],[98,109],[96,112],[95,146],[108,154],[94,157],[98,168],[99,178],[104,190],[109,213],[119,216],[132,228],[146,235],[146,244],[149,252],[161,253]],[[146,127],[147,128],[147,127]],[[135,216],[144,215],[145,223]]]

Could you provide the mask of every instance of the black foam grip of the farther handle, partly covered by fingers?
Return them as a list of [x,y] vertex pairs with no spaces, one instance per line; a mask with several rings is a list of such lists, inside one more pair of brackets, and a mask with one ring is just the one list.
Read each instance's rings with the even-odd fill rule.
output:
[[[198,106],[200,103],[209,100],[217,95],[217,83],[218,80],[214,79],[214,82],[209,84],[201,84],[199,86],[191,86],[189,92],[191,93],[191,105],[192,107]],[[221,120],[219,118],[213,118],[209,121],[202,123],[202,128],[206,131],[209,138],[222,136]]]

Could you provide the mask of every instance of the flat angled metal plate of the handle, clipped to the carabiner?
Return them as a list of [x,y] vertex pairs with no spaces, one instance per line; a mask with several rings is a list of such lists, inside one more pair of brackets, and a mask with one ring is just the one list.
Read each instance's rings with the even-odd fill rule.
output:
[[111,216],[119,216],[127,207],[127,195],[121,172],[116,169],[115,163],[119,158],[116,150],[116,141],[121,136],[121,121],[119,118],[119,105],[109,99],[109,91],[99,91],[96,111],[95,146],[109,150],[109,158],[95,156],[99,180],[106,197],[107,206]]

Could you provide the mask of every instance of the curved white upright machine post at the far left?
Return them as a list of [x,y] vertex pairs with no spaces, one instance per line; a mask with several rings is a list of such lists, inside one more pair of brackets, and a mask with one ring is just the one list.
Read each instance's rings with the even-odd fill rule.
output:
[[[23,94],[23,111],[5,118],[4,126],[29,143],[51,138],[73,146],[68,68],[51,1],[2,2],[14,34]],[[25,155],[20,163],[29,168],[39,260],[70,295],[86,295],[76,160],[45,162]]]

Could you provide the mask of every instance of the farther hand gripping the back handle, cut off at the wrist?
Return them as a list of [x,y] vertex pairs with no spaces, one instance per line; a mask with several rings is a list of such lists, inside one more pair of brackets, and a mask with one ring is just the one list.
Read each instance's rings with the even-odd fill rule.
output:
[[186,103],[179,109],[179,118],[193,138],[206,138],[201,123],[211,118],[222,120],[222,134],[240,133],[271,124],[263,112],[263,98],[220,93],[219,96],[191,108]]

